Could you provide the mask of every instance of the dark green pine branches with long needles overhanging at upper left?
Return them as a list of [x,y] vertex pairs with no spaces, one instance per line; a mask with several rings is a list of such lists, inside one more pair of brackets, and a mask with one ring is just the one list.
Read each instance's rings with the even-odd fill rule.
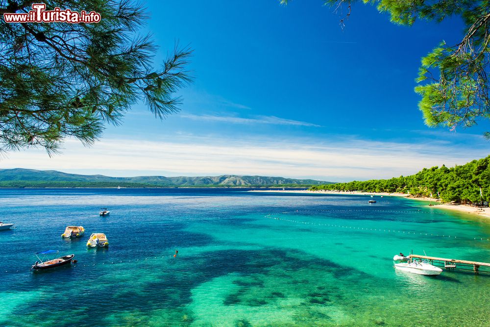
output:
[[[96,24],[5,23],[32,3],[101,14]],[[138,30],[147,20],[129,0],[0,0],[0,151],[48,153],[65,137],[92,144],[138,101],[156,117],[178,111],[175,91],[191,80],[191,50],[173,49],[153,67],[157,47]]]

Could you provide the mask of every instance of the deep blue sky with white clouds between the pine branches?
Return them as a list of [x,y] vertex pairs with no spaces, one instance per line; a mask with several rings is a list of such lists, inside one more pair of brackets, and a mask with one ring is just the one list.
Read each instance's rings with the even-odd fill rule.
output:
[[463,25],[393,25],[376,8],[321,0],[149,0],[160,50],[194,49],[182,111],[161,122],[143,104],[92,148],[67,140],[49,158],[11,153],[4,168],[110,176],[268,175],[343,181],[410,175],[488,155],[487,123],[428,128],[414,92],[420,58],[456,44]]

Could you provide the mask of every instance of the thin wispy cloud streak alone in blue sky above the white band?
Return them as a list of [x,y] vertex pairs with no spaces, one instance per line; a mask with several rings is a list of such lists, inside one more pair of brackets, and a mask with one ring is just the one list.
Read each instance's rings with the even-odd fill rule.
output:
[[190,118],[199,121],[224,122],[232,124],[270,124],[270,125],[293,125],[293,126],[310,126],[321,127],[317,124],[284,119],[275,116],[254,116],[254,118],[242,118],[234,116],[214,116],[214,115],[193,115],[183,114],[183,118]]

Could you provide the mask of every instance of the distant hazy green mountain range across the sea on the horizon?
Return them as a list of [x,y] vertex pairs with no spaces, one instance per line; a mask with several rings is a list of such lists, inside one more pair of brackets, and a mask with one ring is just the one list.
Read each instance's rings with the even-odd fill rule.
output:
[[0,169],[0,187],[309,187],[332,182],[269,176],[110,177],[55,170]]

